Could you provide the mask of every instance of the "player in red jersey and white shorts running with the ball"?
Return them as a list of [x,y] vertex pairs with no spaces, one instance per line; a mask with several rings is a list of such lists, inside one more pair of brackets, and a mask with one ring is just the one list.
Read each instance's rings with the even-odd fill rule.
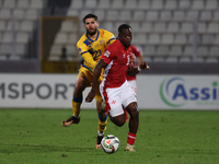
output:
[[139,110],[136,93],[127,82],[126,72],[135,75],[142,69],[150,69],[147,62],[142,62],[138,68],[130,65],[132,33],[128,24],[118,27],[118,39],[110,45],[97,62],[93,78],[92,87],[85,101],[91,102],[95,96],[97,80],[104,69],[104,79],[100,85],[100,92],[105,101],[105,110],[111,120],[118,127],[126,122],[123,107],[130,115],[129,132],[125,151],[135,152],[134,143],[139,125]]

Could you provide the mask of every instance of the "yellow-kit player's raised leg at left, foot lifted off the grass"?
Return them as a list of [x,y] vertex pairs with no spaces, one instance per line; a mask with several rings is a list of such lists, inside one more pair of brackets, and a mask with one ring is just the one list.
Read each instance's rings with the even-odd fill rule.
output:
[[81,75],[78,75],[76,87],[73,91],[73,97],[71,101],[73,116],[71,116],[70,118],[68,118],[61,122],[64,127],[69,127],[72,124],[79,124],[80,108],[81,108],[81,104],[83,101],[82,93],[87,86],[90,86],[90,82],[87,79],[87,77],[81,73]]

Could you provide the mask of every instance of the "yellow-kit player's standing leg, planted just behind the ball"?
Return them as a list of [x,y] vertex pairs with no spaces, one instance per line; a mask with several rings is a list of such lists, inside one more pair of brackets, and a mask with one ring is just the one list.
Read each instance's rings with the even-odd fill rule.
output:
[[95,149],[101,149],[101,140],[104,137],[104,131],[106,130],[107,115],[105,113],[104,102],[96,101],[96,110],[99,115],[99,126],[97,126],[97,137],[95,141]]

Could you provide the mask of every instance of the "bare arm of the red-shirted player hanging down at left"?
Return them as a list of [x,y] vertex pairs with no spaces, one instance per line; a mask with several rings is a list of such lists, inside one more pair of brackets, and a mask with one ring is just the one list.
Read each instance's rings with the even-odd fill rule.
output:
[[107,67],[107,63],[105,63],[103,61],[103,59],[99,60],[95,69],[94,69],[94,72],[93,72],[93,78],[92,78],[92,87],[91,87],[91,91],[89,92],[88,96],[85,97],[85,102],[92,102],[94,96],[95,96],[95,91],[96,91],[96,87],[99,86],[99,78],[101,75],[101,71],[102,71],[102,68],[106,68]]

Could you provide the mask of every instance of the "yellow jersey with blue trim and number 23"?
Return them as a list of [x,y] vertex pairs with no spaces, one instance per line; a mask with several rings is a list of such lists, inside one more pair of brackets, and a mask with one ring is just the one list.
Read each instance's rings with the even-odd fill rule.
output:
[[91,39],[88,34],[84,33],[77,43],[79,54],[84,59],[82,67],[93,72],[105,48],[115,40],[114,34],[106,30],[97,30],[95,39]]

